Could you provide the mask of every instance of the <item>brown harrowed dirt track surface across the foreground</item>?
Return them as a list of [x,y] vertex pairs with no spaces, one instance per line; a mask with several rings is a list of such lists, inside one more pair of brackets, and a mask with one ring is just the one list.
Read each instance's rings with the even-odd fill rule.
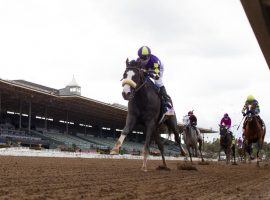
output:
[[160,161],[0,157],[0,199],[270,199],[270,167],[262,163],[196,164],[156,170]]

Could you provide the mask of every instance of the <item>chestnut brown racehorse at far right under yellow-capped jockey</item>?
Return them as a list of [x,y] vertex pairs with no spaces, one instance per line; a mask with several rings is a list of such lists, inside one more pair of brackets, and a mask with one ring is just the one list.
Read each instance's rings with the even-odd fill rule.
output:
[[264,142],[264,136],[266,133],[266,127],[262,127],[262,125],[259,123],[258,117],[252,113],[248,112],[246,120],[245,120],[246,126],[244,129],[244,148],[245,148],[245,154],[248,152],[249,154],[249,160],[252,159],[252,143],[257,144],[257,166],[259,166],[260,161],[260,150],[262,149],[263,142]]

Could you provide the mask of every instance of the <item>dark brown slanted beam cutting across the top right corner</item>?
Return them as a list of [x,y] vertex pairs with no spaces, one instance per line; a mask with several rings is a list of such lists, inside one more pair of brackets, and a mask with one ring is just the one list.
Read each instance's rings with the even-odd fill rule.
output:
[[270,69],[270,0],[241,0]]

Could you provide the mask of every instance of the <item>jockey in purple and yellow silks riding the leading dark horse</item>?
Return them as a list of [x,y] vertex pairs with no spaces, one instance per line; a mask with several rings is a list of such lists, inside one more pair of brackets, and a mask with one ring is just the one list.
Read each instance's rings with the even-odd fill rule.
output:
[[154,78],[156,86],[159,88],[160,95],[162,96],[163,104],[165,106],[166,115],[174,115],[174,110],[171,102],[171,97],[167,94],[164,87],[162,77],[164,66],[155,55],[151,54],[151,50],[147,46],[142,46],[138,50],[139,58],[137,61],[140,63],[141,68],[145,69],[150,77]]

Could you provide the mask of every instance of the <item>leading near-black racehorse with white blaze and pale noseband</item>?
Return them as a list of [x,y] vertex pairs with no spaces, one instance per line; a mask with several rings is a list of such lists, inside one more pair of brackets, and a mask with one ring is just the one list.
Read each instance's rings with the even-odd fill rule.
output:
[[[158,89],[150,80],[151,74],[140,67],[140,63],[135,60],[129,62],[126,60],[126,70],[122,79],[122,96],[128,100],[128,114],[125,127],[116,142],[111,154],[118,154],[127,134],[131,133],[136,124],[145,127],[145,144],[142,149],[143,165],[142,170],[147,171],[147,156],[149,155],[149,146],[151,140],[154,140],[160,150],[163,166],[160,169],[168,169],[165,157],[164,147],[161,142],[160,132],[158,131],[162,116],[162,100]],[[168,127],[169,132],[173,132],[175,141],[180,147],[181,154],[184,151],[181,147],[179,130],[177,127],[176,115],[168,116],[163,120],[163,124]]]

